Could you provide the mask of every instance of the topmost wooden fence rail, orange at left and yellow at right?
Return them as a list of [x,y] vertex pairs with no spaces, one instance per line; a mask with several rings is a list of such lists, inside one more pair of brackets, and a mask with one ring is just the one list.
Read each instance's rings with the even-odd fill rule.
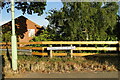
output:
[[[17,44],[118,44],[119,41],[41,41],[41,42],[18,42]],[[6,44],[6,43],[0,43]],[[8,44],[11,44],[10,42]]]

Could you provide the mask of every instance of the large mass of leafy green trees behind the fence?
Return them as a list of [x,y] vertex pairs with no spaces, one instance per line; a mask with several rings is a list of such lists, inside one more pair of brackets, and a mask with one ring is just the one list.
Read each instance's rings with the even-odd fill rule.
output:
[[[50,29],[61,40],[113,40],[118,6],[116,3],[64,2],[60,10],[51,10]],[[111,32],[110,32],[111,31]],[[110,32],[110,33],[109,33]],[[52,33],[52,34],[53,34]]]

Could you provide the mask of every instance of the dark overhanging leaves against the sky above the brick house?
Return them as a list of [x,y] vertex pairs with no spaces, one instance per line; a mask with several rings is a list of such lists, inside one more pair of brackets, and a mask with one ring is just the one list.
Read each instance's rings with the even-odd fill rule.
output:
[[[6,8],[7,12],[10,11],[10,2],[3,2],[2,8]],[[37,13],[39,16],[43,14],[43,10],[45,10],[46,2],[15,2],[15,8],[21,10],[23,14],[27,13],[32,15],[33,13]]]

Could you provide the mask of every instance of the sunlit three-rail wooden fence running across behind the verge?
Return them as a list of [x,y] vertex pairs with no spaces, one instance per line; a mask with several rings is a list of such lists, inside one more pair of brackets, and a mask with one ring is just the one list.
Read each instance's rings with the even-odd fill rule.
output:
[[[50,55],[52,56],[67,56],[67,55],[71,55],[71,57],[73,56],[87,56],[87,55],[98,55],[98,53],[74,53],[74,51],[77,50],[84,50],[84,51],[119,51],[120,50],[120,41],[41,41],[41,42],[18,42],[18,45],[28,45],[28,46],[24,46],[24,47],[20,47],[18,46],[17,49],[32,49],[32,50],[47,50],[47,47],[31,47],[29,45],[31,44],[41,44],[41,45],[54,45],[54,44],[67,44],[67,45],[87,45],[87,47],[81,47],[78,46],[75,49],[70,49],[70,53],[54,53],[53,50],[48,50],[49,52],[45,53],[45,52],[32,52],[32,55],[41,55],[41,56],[48,56]],[[104,44],[108,44],[108,45],[116,45],[114,47],[96,47],[96,46],[92,46],[89,47],[89,45],[104,45]],[[1,49],[11,49],[11,43],[0,43],[0,48]],[[52,47],[52,46],[51,46]],[[58,46],[57,46],[58,47]],[[62,47],[62,45],[60,46]],[[103,55],[103,54],[102,54]],[[108,55],[108,54],[107,54]]]

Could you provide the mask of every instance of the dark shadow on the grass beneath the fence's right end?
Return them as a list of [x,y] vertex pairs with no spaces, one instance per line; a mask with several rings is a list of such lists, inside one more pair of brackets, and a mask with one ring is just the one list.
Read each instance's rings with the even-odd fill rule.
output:
[[[91,56],[85,56],[87,60],[92,60],[99,62],[100,64],[104,64],[105,62],[108,62],[109,65],[114,65],[115,68],[120,71],[120,51],[119,51],[119,44],[116,45],[117,51],[114,52],[114,54],[117,55],[91,55]],[[107,54],[107,53],[106,53]]]

